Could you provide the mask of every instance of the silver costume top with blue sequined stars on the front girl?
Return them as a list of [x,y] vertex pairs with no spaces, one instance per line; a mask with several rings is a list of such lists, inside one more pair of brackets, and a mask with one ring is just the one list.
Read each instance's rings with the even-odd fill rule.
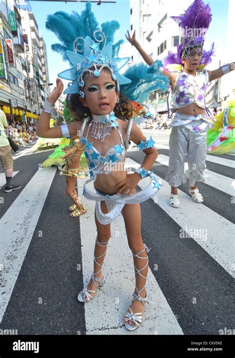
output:
[[[92,125],[92,121],[89,123],[86,137],[83,137],[84,128],[86,126],[86,123],[90,119],[91,119],[90,117],[86,118],[82,125],[81,133],[80,133],[80,142],[84,144],[84,154],[88,162],[90,177],[91,179],[96,179],[97,174],[110,174],[114,165],[116,165],[116,163],[118,162],[123,161],[126,155],[126,149],[125,149],[120,128],[117,123],[117,118],[114,116],[114,121],[112,122],[113,125],[111,126],[111,128],[114,127],[118,131],[121,143],[116,144],[111,148],[109,148],[106,151],[105,155],[102,156],[98,151],[98,149],[96,149],[93,146],[93,142],[89,142],[87,139],[90,131],[90,127]],[[99,138],[99,135],[98,137],[95,138]]]

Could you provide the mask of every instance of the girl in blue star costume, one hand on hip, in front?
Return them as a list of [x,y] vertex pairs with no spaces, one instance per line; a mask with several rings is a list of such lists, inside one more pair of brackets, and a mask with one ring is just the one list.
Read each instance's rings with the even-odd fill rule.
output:
[[[137,125],[133,124],[133,120],[127,121],[123,117],[124,111],[125,115],[131,114],[131,103],[120,95],[119,84],[128,84],[130,80],[120,75],[118,69],[124,66],[129,58],[114,59],[111,43],[100,50],[97,42],[86,36],[84,55],[66,51],[73,68],[59,74],[61,78],[73,81],[64,93],[72,93],[70,108],[78,118],[85,120],[61,126],[61,129],[50,128],[50,116],[47,112],[53,110],[53,105],[63,90],[61,80],[57,79],[57,87],[48,95],[48,101],[44,104],[45,109],[39,119],[37,134],[42,137],[61,137],[61,133],[63,136],[79,134],[79,144],[84,145],[91,179],[84,183],[83,195],[96,201],[97,238],[94,273],[89,284],[78,295],[80,302],[91,301],[97,288],[104,284],[102,265],[111,237],[111,222],[119,214],[123,216],[128,245],[133,254],[136,280],[134,299],[124,317],[124,323],[128,330],[134,330],[142,322],[145,303],[150,303],[145,289],[149,249],[143,244],[141,236],[139,203],[157,193],[161,186],[161,180],[149,171],[158,153],[152,138],[147,140]],[[119,66],[119,63],[122,66]],[[126,173],[124,169],[130,140],[146,155],[141,167],[133,174]],[[150,177],[149,184],[136,192],[136,185],[145,177]],[[94,181],[96,193],[87,188],[90,181]]]

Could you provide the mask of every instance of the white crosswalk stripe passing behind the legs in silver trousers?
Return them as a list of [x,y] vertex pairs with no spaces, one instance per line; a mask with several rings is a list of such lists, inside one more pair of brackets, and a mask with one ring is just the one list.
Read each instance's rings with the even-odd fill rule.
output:
[[[156,162],[159,162],[165,166],[169,166],[169,157],[164,154],[159,154]],[[184,170],[188,169],[188,164],[184,164]],[[204,171],[204,179],[207,185],[213,186],[214,188],[221,190],[231,196],[235,195],[235,189],[233,186],[234,179],[229,177],[225,177],[221,174],[205,170]]]

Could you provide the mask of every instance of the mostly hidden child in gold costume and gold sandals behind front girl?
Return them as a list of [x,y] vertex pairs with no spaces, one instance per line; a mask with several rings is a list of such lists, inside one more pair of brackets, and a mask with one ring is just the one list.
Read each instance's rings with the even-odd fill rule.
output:
[[79,138],[72,136],[70,143],[62,148],[62,151],[65,152],[64,156],[60,157],[61,159],[65,159],[66,162],[65,166],[60,169],[60,174],[65,172],[64,175],[66,176],[66,194],[74,202],[68,209],[71,211],[69,214],[71,217],[78,217],[87,212],[75,189],[77,178],[82,179],[86,177],[86,170],[79,168],[79,161],[84,148],[84,146],[79,143]]

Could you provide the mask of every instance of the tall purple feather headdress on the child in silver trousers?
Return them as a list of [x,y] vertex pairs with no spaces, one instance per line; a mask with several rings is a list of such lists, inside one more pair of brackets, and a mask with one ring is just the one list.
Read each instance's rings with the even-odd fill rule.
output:
[[[202,50],[205,41],[206,32],[210,26],[211,8],[209,4],[205,5],[202,0],[194,0],[193,3],[179,16],[171,16],[180,28],[180,35],[183,43],[177,46],[177,53],[169,51],[168,56],[164,59],[164,65],[178,64],[182,65],[181,57],[187,60],[190,48],[196,48],[197,52]],[[205,65],[211,61],[214,54],[214,43],[210,51],[203,50],[200,65]]]

